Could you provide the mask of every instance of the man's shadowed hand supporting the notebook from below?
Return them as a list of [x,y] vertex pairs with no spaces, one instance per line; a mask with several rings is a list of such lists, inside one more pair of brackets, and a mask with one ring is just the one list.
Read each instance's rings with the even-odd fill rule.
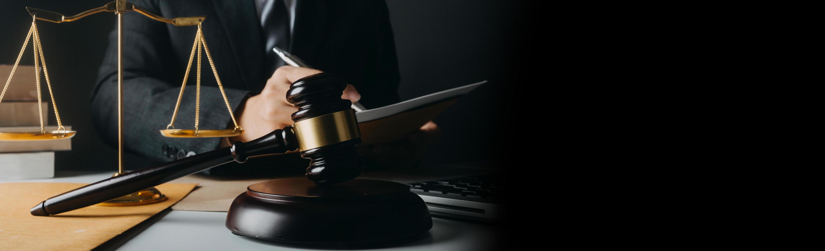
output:
[[441,130],[435,122],[429,121],[405,140],[389,144],[361,145],[358,147],[358,153],[390,168],[407,168],[412,167],[424,156],[427,144],[435,143],[439,138]]

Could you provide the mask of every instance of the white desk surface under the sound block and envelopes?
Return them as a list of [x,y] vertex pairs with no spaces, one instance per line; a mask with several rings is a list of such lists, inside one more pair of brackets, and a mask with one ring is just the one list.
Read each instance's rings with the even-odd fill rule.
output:
[[[59,178],[24,179],[0,182],[97,182],[110,173],[57,173]],[[44,198],[45,199],[45,198]],[[285,244],[239,236],[224,226],[226,212],[162,211],[143,223],[102,244],[102,250],[308,250],[308,249],[389,249],[389,250],[493,250],[507,241],[502,225],[489,225],[433,217],[432,229],[412,239],[384,244],[318,245]]]

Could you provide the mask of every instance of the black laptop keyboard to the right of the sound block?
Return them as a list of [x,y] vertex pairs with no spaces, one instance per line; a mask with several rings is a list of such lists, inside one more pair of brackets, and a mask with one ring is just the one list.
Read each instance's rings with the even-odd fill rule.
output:
[[413,192],[431,192],[469,198],[503,199],[507,193],[514,192],[504,178],[492,175],[415,182],[408,186]]

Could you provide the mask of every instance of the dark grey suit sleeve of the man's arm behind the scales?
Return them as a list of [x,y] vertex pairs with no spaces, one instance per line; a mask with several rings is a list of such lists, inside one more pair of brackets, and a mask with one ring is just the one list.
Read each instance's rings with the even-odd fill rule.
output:
[[[134,1],[148,12],[159,12],[148,1]],[[200,154],[217,149],[221,138],[166,138],[158,130],[166,129],[172,119],[186,65],[181,65],[172,50],[168,30],[171,25],[153,21],[136,12],[124,16],[124,147],[127,151],[158,162],[179,159],[186,154]],[[192,40],[195,33],[192,33]],[[191,45],[192,41],[188,41]],[[188,57],[189,52],[186,51]],[[205,57],[205,56],[204,56]],[[186,64],[186,63],[184,63]],[[175,127],[194,129],[196,62],[192,63],[186,93],[181,100]],[[201,78],[212,78],[204,59]],[[229,104],[237,108],[247,96],[246,90],[224,88]],[[107,144],[117,145],[117,30],[109,36],[109,45],[92,91],[92,120]],[[219,102],[218,102],[219,101]],[[232,125],[229,111],[217,86],[200,88],[200,129],[226,129]]]

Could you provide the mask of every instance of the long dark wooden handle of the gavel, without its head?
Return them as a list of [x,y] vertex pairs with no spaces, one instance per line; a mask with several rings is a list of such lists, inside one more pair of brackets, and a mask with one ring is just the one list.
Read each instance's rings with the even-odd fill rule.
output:
[[[285,140],[286,138],[286,140]],[[158,186],[177,178],[214,168],[233,160],[246,161],[247,157],[262,154],[285,153],[295,150],[295,135],[291,126],[285,130],[275,130],[257,140],[247,143],[235,142],[232,146],[173,160],[151,168],[143,168],[129,173],[107,178],[55,197],[50,197],[31,208],[31,215],[45,216],[73,211],[97,203],[111,201],[130,193]]]

